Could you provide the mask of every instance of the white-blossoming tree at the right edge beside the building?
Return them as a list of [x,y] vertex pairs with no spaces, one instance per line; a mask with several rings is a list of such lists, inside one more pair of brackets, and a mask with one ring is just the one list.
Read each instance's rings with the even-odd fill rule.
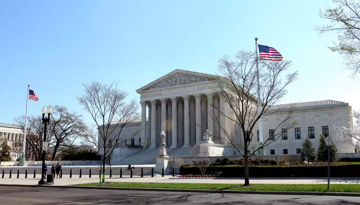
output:
[[357,150],[360,149],[360,110],[353,111],[352,117],[355,119],[354,125],[351,122],[348,122],[345,126],[336,126],[335,129],[338,130],[337,136],[342,137],[345,140],[350,141],[350,144],[354,146]]

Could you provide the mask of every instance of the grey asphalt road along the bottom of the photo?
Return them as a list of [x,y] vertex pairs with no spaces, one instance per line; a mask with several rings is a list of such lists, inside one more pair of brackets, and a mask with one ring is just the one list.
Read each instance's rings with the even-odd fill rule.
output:
[[214,194],[0,186],[0,204],[360,204],[360,197]]

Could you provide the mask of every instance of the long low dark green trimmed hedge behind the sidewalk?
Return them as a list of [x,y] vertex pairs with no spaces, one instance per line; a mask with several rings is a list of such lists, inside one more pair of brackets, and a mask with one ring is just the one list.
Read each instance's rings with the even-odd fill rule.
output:
[[[244,166],[209,166],[206,174],[220,173],[220,177],[244,177]],[[183,165],[182,175],[200,174],[199,168]],[[249,166],[250,177],[327,177],[328,166]],[[330,166],[330,177],[360,177],[360,165]]]

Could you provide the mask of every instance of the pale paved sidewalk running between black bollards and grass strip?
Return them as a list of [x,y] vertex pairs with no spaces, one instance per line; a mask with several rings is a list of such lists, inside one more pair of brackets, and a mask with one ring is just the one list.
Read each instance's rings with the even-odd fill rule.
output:
[[[24,178],[24,175],[20,175],[20,178],[16,178],[16,174],[12,175],[12,178],[9,178],[8,174],[5,174],[4,178],[0,178],[0,185],[38,185],[40,177],[32,178],[31,175],[28,175],[29,178]],[[69,178],[69,175],[63,175],[61,179],[55,179],[54,185],[66,186],[66,185],[76,185],[79,183],[91,183],[99,182],[100,178],[98,175],[93,175],[92,178],[89,178],[87,175],[83,175],[82,178],[79,178],[78,175],[73,175],[73,178]],[[244,183],[244,179],[237,178],[178,178],[172,177],[172,175],[166,175],[161,177],[157,175],[155,177],[151,176],[114,176],[110,178],[106,176],[106,182],[147,182],[147,183]],[[328,183],[327,179],[250,179],[250,183],[289,183],[289,184],[326,184]],[[352,184],[360,183],[360,178],[336,178],[330,179],[330,183],[343,183],[343,184]]]

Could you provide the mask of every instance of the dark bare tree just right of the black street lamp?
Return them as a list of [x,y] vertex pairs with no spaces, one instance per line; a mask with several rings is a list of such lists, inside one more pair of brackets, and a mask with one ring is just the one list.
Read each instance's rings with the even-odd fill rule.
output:
[[51,118],[49,129],[53,137],[49,140],[49,146],[53,147],[51,160],[55,160],[60,147],[73,146],[74,141],[84,134],[85,124],[81,115],[71,113],[63,106],[54,106]]

